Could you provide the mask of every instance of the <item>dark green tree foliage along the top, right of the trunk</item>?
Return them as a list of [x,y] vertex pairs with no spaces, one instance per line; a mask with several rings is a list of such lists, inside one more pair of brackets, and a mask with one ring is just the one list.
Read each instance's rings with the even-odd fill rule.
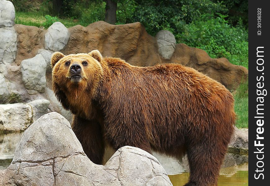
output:
[[210,0],[137,0],[134,21],[141,22],[148,33],[155,35],[162,29],[181,33],[185,24],[200,17],[205,10],[209,13],[226,11],[225,6]]

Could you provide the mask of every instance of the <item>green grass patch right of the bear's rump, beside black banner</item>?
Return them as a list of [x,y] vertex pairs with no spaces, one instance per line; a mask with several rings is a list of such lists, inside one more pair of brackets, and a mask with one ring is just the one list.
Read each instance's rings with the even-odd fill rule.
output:
[[234,96],[234,110],[237,115],[236,127],[237,128],[248,128],[248,110],[249,110],[249,98],[248,98],[248,80],[241,83],[238,89],[233,92]]

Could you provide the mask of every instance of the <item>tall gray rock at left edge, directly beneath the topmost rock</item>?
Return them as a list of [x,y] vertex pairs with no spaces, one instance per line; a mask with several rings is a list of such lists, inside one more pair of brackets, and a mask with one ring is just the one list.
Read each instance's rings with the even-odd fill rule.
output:
[[0,64],[12,63],[15,60],[16,52],[17,34],[14,27],[0,28]]

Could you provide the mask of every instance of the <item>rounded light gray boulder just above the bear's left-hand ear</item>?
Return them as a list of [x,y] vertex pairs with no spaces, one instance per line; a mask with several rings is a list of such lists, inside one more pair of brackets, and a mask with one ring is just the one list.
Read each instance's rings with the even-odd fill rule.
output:
[[67,44],[70,33],[64,24],[60,22],[53,23],[45,34],[45,49],[51,51],[60,51]]

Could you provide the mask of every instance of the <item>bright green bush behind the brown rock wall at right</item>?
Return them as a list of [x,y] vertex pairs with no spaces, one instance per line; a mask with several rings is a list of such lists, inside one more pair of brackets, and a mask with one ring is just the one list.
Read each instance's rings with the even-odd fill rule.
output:
[[248,31],[241,22],[236,27],[230,26],[225,17],[201,15],[176,34],[177,42],[201,48],[212,58],[226,57],[231,63],[248,68]]

